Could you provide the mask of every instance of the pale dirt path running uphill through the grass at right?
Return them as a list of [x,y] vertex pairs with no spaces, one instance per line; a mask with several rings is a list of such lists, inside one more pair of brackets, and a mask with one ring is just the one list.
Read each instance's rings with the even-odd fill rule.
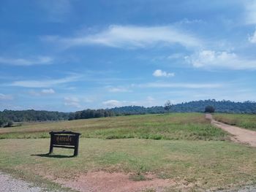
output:
[[231,139],[234,142],[240,142],[246,145],[251,145],[252,147],[256,147],[256,131],[251,131],[245,128],[230,126],[225,123],[221,123],[217,120],[214,120],[211,114],[206,114],[206,118],[211,120],[212,125],[222,128],[224,131],[232,134],[233,137],[231,137]]

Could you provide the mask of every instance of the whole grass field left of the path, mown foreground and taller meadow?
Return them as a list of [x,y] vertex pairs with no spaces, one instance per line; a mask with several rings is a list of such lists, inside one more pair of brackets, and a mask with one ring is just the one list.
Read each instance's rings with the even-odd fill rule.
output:
[[[50,141],[44,137],[62,129],[82,133],[78,157],[69,158],[72,150],[59,148],[47,155]],[[46,177],[72,180],[99,170],[141,176],[150,172],[195,191],[256,183],[256,149],[230,142],[227,133],[199,113],[39,123],[0,133],[9,138],[0,139],[0,170],[53,189],[58,185]]]

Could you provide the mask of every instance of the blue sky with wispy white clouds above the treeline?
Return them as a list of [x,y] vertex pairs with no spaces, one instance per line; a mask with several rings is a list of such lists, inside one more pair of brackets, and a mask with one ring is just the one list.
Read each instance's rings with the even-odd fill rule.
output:
[[254,0],[0,0],[0,110],[255,101]]

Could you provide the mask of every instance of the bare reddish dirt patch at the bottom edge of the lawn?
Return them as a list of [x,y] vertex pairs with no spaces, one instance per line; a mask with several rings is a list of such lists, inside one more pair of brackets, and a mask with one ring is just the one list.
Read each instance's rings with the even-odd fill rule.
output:
[[187,183],[176,183],[171,179],[159,179],[153,174],[147,175],[149,180],[132,181],[129,174],[121,172],[89,172],[81,174],[76,180],[58,180],[65,187],[72,188],[81,192],[135,192],[146,191],[165,191],[165,187],[181,185],[187,187]]

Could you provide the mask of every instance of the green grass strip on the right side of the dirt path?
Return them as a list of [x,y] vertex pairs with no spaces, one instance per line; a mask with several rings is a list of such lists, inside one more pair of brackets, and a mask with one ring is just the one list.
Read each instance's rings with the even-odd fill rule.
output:
[[232,126],[240,126],[256,131],[256,115],[249,114],[215,114],[214,118]]

